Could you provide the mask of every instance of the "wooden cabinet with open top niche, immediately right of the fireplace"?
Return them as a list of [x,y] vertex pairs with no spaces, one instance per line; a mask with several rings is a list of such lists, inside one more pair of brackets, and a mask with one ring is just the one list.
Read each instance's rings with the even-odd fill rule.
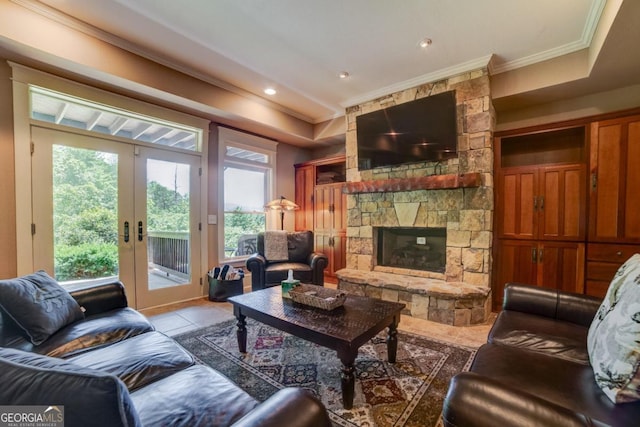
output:
[[496,139],[494,307],[504,284],[584,290],[586,128]]

